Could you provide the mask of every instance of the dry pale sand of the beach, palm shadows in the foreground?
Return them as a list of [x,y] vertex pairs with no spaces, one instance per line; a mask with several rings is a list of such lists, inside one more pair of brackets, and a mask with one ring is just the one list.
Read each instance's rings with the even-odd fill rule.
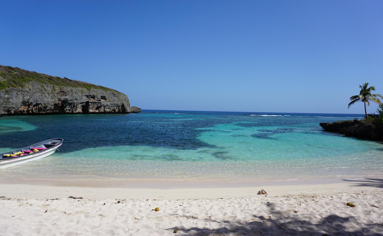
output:
[[[261,188],[268,194],[257,195]],[[381,180],[238,188],[1,184],[0,235],[383,235],[382,194]]]

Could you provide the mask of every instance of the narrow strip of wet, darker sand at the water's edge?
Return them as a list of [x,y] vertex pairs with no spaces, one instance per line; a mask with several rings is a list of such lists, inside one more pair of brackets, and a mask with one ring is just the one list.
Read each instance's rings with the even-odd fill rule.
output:
[[341,184],[347,182],[364,182],[368,179],[382,179],[383,175],[369,175],[363,177],[345,176],[342,178],[311,178],[311,179],[288,179],[288,180],[203,180],[203,179],[132,179],[132,178],[15,178],[14,176],[2,176],[0,172],[0,185],[23,184],[41,186],[63,187],[90,187],[90,188],[223,188],[223,187],[257,187],[257,186],[283,186],[283,185],[321,185]]

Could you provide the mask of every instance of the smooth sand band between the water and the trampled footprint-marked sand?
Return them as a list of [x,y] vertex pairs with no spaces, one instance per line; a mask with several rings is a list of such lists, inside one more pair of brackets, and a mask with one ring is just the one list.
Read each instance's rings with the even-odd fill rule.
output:
[[[201,184],[201,183],[199,183]],[[350,180],[343,182],[259,182],[256,185],[187,185],[185,182],[171,183],[134,183],[129,187],[115,186],[53,186],[20,183],[0,183],[0,195],[7,198],[67,198],[69,196],[86,199],[213,199],[213,198],[241,198],[260,196],[257,192],[265,189],[273,196],[299,194],[333,194],[360,193],[364,191],[382,190],[382,179]]]

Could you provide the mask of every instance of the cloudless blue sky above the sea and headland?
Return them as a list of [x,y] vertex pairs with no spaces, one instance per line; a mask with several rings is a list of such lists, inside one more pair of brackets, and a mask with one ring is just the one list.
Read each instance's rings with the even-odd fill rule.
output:
[[347,109],[359,84],[383,94],[381,0],[20,0],[1,9],[0,64],[110,87],[142,109],[363,113],[362,103]]

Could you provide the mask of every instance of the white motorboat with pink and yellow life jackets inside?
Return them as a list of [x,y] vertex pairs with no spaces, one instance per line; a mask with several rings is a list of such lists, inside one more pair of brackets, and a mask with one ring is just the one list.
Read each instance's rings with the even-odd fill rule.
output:
[[0,169],[38,160],[56,152],[64,139],[49,139],[13,152],[0,154]]

